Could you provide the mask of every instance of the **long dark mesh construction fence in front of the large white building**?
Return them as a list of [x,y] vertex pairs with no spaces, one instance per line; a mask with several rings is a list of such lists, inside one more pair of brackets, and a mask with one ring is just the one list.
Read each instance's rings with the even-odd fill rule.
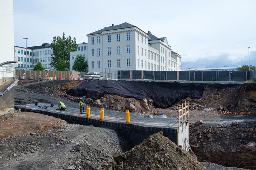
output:
[[118,71],[118,79],[173,81],[246,81],[249,71]]

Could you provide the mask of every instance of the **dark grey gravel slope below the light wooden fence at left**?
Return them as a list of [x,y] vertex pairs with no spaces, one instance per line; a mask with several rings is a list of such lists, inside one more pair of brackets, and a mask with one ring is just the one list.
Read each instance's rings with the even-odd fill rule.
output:
[[15,91],[27,92],[27,93],[38,93],[53,96],[55,91],[61,89],[64,85],[69,83],[70,80],[52,80],[35,82],[26,85],[20,85],[15,88]]

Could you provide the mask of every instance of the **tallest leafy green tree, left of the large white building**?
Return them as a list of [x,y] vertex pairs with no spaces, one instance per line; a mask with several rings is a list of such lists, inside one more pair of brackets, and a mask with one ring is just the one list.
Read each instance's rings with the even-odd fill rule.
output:
[[77,45],[75,41],[75,37],[72,39],[69,35],[67,38],[65,37],[65,33],[60,36],[53,37],[52,39],[52,61],[50,65],[57,69],[57,64],[60,60],[66,62],[67,68],[70,68],[70,52],[76,51]]

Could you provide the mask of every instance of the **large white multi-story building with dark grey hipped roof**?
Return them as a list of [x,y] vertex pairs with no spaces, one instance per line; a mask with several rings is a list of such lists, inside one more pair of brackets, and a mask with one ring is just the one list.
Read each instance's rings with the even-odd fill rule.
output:
[[171,56],[166,37],[157,38],[129,23],[112,24],[87,36],[89,71],[181,70],[176,67],[181,56]]

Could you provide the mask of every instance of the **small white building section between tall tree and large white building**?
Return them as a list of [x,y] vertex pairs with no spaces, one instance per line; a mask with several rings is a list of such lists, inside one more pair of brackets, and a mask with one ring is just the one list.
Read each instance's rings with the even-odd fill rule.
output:
[[77,44],[77,50],[70,52],[70,70],[73,70],[73,64],[77,55],[82,55],[84,60],[88,61],[88,43]]

